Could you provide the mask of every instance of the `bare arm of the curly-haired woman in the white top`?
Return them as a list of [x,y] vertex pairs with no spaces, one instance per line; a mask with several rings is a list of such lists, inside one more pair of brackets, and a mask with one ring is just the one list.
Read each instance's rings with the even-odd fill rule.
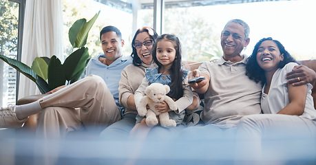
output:
[[302,115],[305,109],[307,85],[293,86],[288,83],[288,99],[290,103],[278,114]]

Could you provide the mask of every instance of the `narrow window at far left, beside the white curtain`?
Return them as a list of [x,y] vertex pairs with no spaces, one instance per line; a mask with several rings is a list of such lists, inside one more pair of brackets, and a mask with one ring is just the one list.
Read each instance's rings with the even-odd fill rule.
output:
[[[17,59],[19,3],[0,2],[0,54]],[[16,100],[17,70],[0,61],[0,104],[6,106]]]

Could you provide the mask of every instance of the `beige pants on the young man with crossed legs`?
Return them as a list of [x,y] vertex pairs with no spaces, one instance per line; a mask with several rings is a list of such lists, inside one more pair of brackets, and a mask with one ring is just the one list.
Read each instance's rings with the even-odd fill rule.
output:
[[[45,96],[40,102],[43,111],[36,126],[39,144],[38,164],[54,164],[60,142],[70,131],[92,129],[103,131],[120,120],[120,111],[104,80],[87,76],[72,85]],[[61,140],[61,141],[60,141]],[[57,142],[57,144],[54,144]]]

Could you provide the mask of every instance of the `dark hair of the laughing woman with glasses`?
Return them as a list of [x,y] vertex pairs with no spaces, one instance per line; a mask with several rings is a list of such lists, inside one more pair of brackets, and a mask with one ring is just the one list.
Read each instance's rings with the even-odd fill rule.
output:
[[137,52],[136,52],[136,48],[133,46],[134,43],[135,43],[135,40],[136,40],[136,36],[142,32],[147,32],[150,36],[150,38],[155,42],[155,40],[157,39],[158,37],[158,34],[156,33],[156,31],[152,28],[149,28],[149,27],[143,27],[143,28],[139,28],[135,35],[134,35],[134,38],[133,40],[131,41],[131,50],[133,50],[133,52],[131,52],[131,57],[133,58],[133,65],[135,66],[140,66],[141,63],[143,62],[139,56],[137,55]]

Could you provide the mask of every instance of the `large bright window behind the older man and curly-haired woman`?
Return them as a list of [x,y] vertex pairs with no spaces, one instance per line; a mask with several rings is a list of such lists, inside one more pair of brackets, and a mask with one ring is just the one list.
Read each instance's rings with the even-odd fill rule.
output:
[[[162,32],[179,37],[185,60],[205,61],[222,56],[220,34],[225,23],[242,19],[251,28],[251,42],[244,54],[250,55],[257,41],[271,36],[297,60],[316,58],[315,21],[310,19],[316,15],[316,1],[237,2],[166,0]],[[152,3],[145,1],[141,6],[139,26],[153,25]]]

